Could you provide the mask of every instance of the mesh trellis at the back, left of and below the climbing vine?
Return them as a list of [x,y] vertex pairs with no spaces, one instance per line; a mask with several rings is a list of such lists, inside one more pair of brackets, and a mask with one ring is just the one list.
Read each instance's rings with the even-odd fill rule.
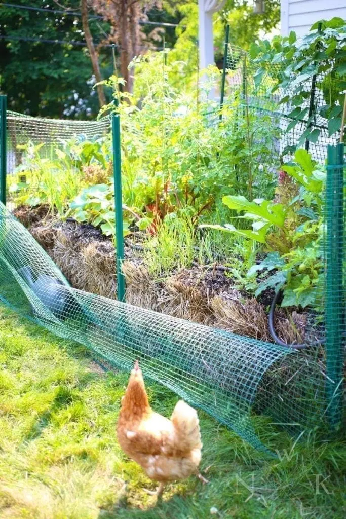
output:
[[[275,85],[275,79],[280,77],[287,63],[281,62],[270,65],[259,65],[250,58],[247,52],[228,44],[226,56],[226,95],[227,91],[238,90],[240,92],[240,108],[239,119],[245,119],[249,115],[255,117],[266,117],[267,124],[276,128],[279,136],[272,141],[272,160],[277,166],[280,164],[282,157],[288,158],[292,151],[296,148],[297,143],[303,137],[304,132],[310,128],[311,132],[315,129],[319,130],[319,136],[315,142],[309,141],[308,148],[312,157],[324,162],[327,158],[327,145],[336,144],[340,140],[340,131],[329,137],[327,120],[317,115],[309,120],[308,114],[301,120],[296,115],[296,119],[292,113],[294,106],[291,100],[294,97],[294,81],[292,80],[285,88],[278,88],[272,93]],[[293,78],[294,79],[294,78]],[[334,79],[337,81],[337,79]],[[324,91],[326,90],[326,78],[323,74],[315,76],[314,87],[312,78],[300,81],[303,84],[303,90],[310,92],[305,104],[302,105],[302,112],[305,108],[309,108],[311,91],[313,90],[312,113],[317,112],[317,107],[324,106]],[[341,80],[340,80],[341,83]],[[336,88],[339,85],[334,85]],[[331,88],[328,85],[328,88]],[[341,87],[340,87],[341,88]],[[278,104],[285,98],[286,102]],[[294,126],[293,126],[293,123]],[[293,128],[291,128],[293,126]],[[306,142],[302,141],[302,146]]]

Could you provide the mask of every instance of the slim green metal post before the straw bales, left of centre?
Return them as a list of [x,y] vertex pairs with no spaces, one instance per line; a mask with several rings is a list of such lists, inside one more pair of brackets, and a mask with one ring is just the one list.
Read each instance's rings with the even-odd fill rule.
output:
[[[118,106],[118,100],[115,100]],[[117,280],[118,299],[123,301],[125,297],[125,278],[122,273],[124,259],[123,222],[122,222],[122,193],[121,193],[121,156],[120,156],[120,116],[117,112],[112,115],[113,133],[113,175],[114,175],[114,201],[115,201],[115,236],[117,240]]]

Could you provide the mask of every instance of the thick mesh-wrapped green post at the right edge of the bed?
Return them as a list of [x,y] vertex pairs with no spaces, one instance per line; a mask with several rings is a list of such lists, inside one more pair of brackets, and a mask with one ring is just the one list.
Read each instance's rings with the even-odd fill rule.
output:
[[[341,420],[344,295],[344,145],[328,145],[326,182],[326,396],[329,424]],[[338,167],[339,166],[339,167]]]

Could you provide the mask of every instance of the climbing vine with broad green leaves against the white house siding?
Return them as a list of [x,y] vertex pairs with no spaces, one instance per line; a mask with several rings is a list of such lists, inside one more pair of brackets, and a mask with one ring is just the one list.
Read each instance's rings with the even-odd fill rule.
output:
[[[346,88],[345,52],[346,23],[342,18],[314,23],[301,40],[291,32],[288,37],[274,36],[271,42],[266,40],[250,47],[250,56],[257,65],[257,85],[271,77],[272,92],[281,89],[280,102],[290,106],[287,115],[292,120],[287,131],[300,121],[307,123],[297,140],[298,147],[305,140],[316,143],[319,139],[320,127],[311,126],[316,118],[328,128],[329,136],[340,131]],[[324,103],[313,103],[309,111],[313,78]]]

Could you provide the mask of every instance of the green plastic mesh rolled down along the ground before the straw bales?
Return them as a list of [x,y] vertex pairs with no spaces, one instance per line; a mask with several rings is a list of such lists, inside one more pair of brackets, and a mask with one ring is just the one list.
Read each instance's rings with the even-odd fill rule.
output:
[[0,204],[0,295],[22,315],[144,374],[204,409],[254,447],[252,409],[300,431],[325,420],[323,352],[300,354],[71,288]]

